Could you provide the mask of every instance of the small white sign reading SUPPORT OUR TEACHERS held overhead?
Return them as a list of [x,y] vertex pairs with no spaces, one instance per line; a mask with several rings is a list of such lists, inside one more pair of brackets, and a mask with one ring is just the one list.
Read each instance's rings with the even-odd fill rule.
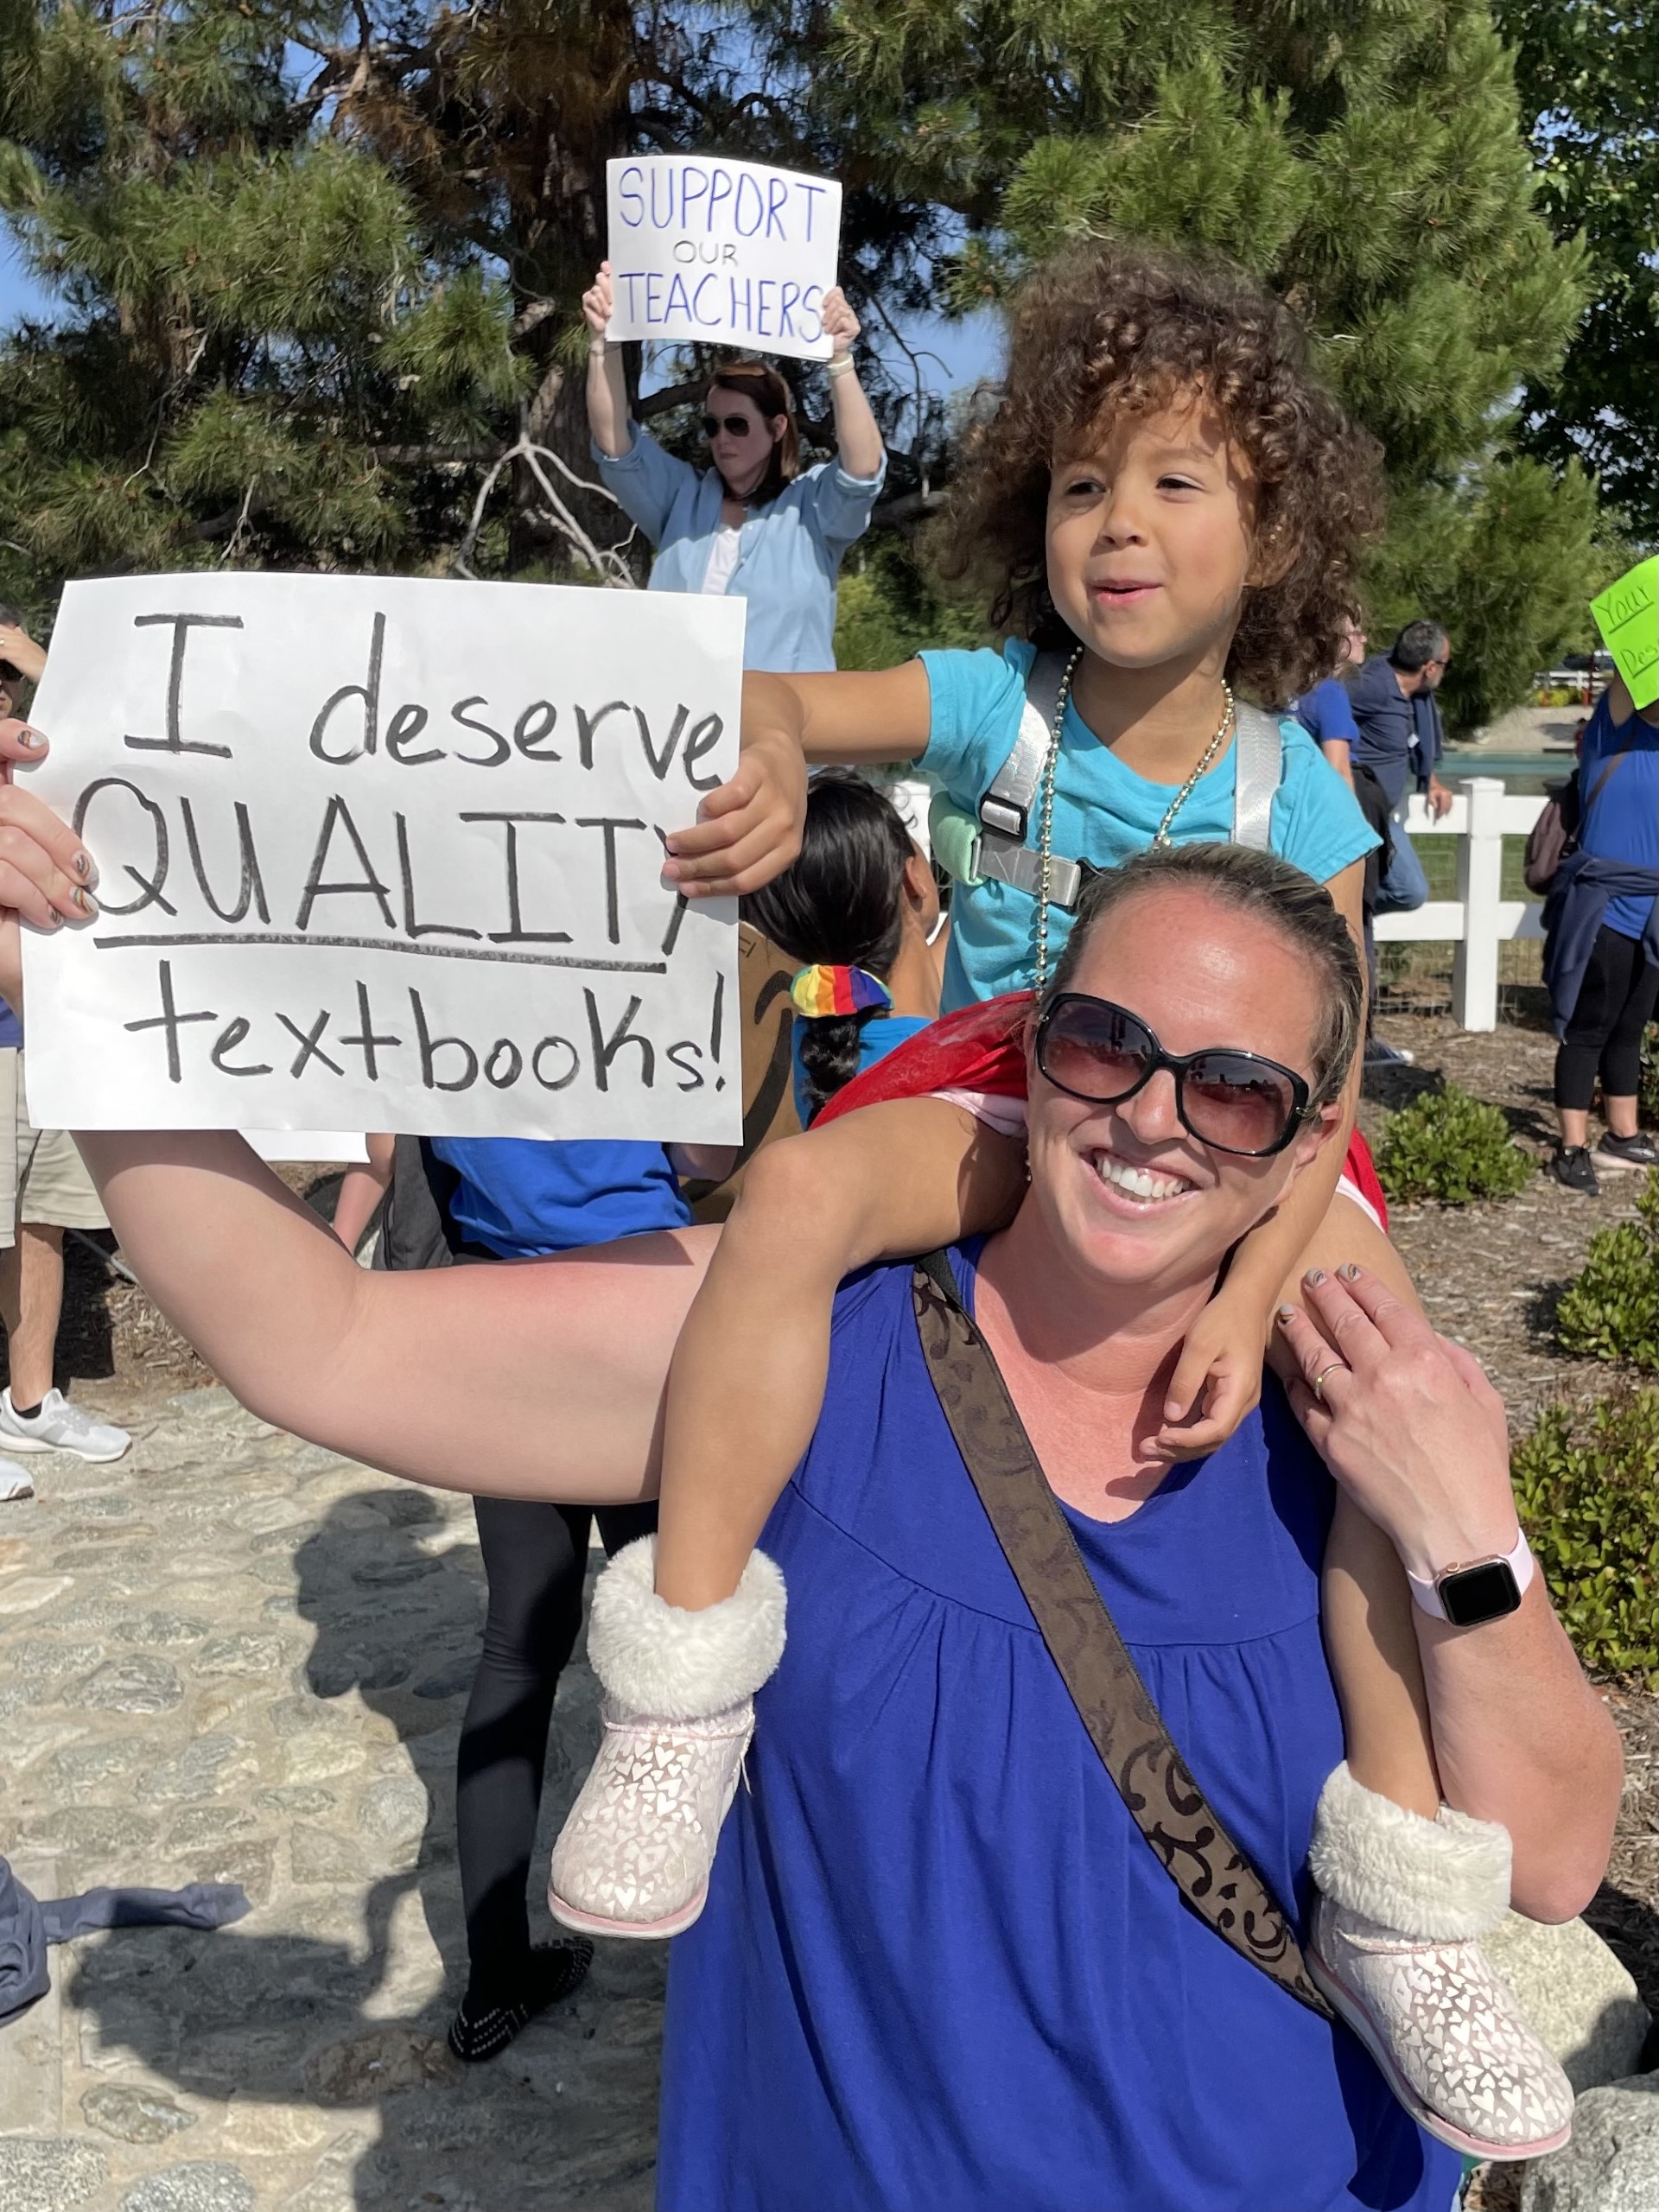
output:
[[761,161],[655,153],[606,161],[606,336],[827,361],[841,186]]

